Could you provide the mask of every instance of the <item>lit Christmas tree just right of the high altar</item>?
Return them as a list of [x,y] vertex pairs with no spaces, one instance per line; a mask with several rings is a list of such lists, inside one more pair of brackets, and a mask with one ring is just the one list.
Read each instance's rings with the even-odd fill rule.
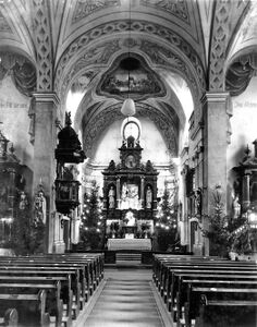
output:
[[160,251],[167,251],[178,242],[178,198],[176,187],[172,190],[172,201],[167,185],[157,207],[156,233]]

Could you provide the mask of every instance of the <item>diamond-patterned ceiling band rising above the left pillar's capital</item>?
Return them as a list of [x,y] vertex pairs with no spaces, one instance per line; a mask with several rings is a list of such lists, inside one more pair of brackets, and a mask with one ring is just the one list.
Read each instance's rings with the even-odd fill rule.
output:
[[53,87],[53,58],[50,15],[46,1],[33,0],[33,5],[35,49],[37,52],[37,90],[51,92]]

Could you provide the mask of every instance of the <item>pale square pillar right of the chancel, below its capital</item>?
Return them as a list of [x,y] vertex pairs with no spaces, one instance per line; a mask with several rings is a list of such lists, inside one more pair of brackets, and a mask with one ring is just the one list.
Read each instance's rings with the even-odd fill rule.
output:
[[[207,93],[203,104],[204,142],[204,194],[203,228],[209,228],[209,215],[213,213],[213,191],[219,184],[222,190],[224,215],[227,210],[227,147],[230,135],[231,111],[229,93]],[[208,239],[204,239],[204,254],[209,255]]]

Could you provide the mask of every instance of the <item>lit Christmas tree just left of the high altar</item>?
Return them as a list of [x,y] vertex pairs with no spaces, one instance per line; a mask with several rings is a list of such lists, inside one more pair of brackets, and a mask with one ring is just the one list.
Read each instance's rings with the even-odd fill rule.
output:
[[105,220],[99,186],[91,182],[90,192],[84,194],[84,209],[81,221],[81,243],[84,250],[100,250],[105,243]]

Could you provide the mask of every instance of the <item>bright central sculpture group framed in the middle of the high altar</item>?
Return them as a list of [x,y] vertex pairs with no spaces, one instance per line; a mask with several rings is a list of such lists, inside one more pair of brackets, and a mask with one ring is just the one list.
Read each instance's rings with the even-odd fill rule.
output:
[[128,208],[139,209],[138,185],[124,182],[121,192],[121,209]]

